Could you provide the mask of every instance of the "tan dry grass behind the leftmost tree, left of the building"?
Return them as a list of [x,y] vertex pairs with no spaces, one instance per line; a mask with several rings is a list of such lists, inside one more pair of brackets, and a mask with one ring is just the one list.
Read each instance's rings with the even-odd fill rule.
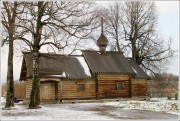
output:
[[[2,92],[1,95],[3,97],[6,96],[6,84],[2,85]],[[26,83],[15,83],[14,84],[14,97],[17,97],[18,99],[25,99],[26,97]]]

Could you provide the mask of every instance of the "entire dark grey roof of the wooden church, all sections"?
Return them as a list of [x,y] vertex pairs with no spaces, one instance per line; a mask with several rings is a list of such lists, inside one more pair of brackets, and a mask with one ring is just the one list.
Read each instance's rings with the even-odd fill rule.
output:
[[[131,74],[133,78],[150,79],[132,59],[126,59],[123,53],[107,51],[82,51],[82,56],[41,53],[39,57],[40,76],[61,77],[67,79],[91,79],[96,73]],[[32,54],[23,53],[23,65],[20,80],[32,77]],[[25,65],[25,66],[24,66]]]

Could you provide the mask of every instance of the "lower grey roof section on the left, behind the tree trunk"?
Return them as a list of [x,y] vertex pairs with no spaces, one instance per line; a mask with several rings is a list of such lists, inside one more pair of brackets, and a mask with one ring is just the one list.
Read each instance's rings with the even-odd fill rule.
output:
[[[27,67],[27,75],[32,76],[32,54],[23,53]],[[81,58],[83,58],[81,56]],[[83,61],[81,59],[81,61]],[[39,57],[39,74],[40,75],[64,75],[68,79],[88,79],[91,74],[87,74],[87,66],[81,64],[77,56],[65,56],[59,54],[40,54]]]

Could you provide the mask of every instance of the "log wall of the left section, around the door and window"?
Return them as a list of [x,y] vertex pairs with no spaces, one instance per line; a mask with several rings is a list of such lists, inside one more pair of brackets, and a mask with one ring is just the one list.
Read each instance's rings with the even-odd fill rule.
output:
[[[51,79],[53,80],[53,79]],[[56,81],[55,81],[56,80]],[[41,86],[51,83],[52,92],[51,97],[48,100],[41,101],[55,101],[60,99],[95,99],[95,81],[94,80],[63,80],[59,81],[47,81],[47,79],[41,79]],[[85,85],[85,90],[79,91],[78,85]],[[42,88],[42,87],[41,87]],[[26,99],[29,100],[32,89],[32,80],[26,80]],[[62,90],[62,91],[61,91]],[[42,92],[41,92],[42,93]],[[43,96],[45,94],[41,94]],[[54,99],[55,97],[55,99]],[[41,97],[42,99],[42,97]],[[51,100],[52,99],[52,100]]]

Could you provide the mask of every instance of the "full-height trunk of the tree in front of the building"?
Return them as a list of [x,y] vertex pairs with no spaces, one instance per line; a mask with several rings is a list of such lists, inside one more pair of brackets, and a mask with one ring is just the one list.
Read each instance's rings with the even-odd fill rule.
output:
[[45,11],[43,6],[44,2],[38,2],[38,15],[37,15],[37,27],[34,34],[34,47],[33,47],[33,85],[30,96],[29,108],[39,108],[40,104],[40,79],[39,79],[39,43],[41,41],[42,34],[42,22],[41,18]]

